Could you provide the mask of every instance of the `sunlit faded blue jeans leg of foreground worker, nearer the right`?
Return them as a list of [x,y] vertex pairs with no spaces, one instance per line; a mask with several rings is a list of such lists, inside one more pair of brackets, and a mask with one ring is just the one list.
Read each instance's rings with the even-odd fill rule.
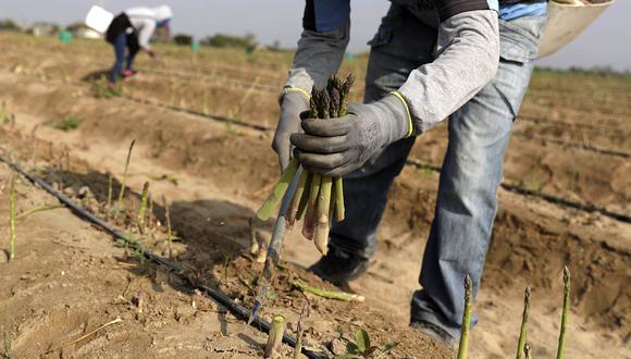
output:
[[[459,337],[469,274],[478,294],[497,210],[497,187],[517,115],[536,58],[545,17],[500,21],[500,63],[495,78],[449,120],[449,145],[438,198],[412,297],[412,320]],[[475,322],[477,319],[473,319]]]

